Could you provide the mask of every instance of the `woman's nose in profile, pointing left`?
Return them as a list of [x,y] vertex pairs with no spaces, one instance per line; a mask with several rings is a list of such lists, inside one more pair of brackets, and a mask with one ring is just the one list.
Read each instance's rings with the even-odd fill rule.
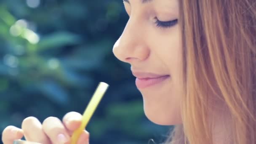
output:
[[113,53],[120,61],[136,63],[149,57],[147,31],[139,18],[130,16],[122,35],[113,46]]

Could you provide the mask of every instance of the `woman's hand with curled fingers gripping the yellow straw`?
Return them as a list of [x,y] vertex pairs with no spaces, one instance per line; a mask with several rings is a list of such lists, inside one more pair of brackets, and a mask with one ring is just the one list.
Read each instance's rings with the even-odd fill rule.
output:
[[[61,122],[57,117],[48,117],[43,124],[35,117],[27,117],[21,124],[21,129],[8,126],[2,134],[4,144],[13,144],[14,140],[23,136],[27,141],[41,144],[70,144],[71,136],[81,125],[82,115],[77,112],[67,113]],[[83,131],[77,144],[89,144],[89,133]]]

